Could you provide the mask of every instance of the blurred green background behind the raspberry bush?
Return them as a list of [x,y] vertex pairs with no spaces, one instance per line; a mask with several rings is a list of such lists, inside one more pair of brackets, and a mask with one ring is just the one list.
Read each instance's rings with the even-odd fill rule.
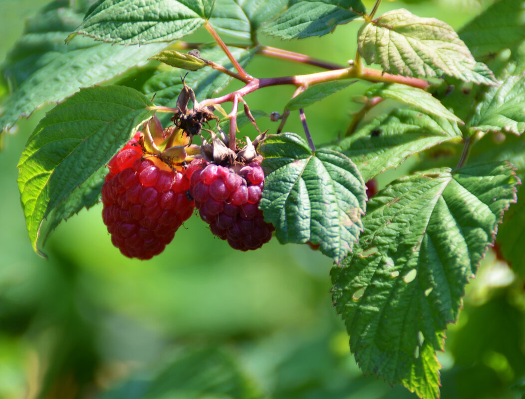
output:
[[[0,60],[24,19],[46,3],[0,0]],[[380,13],[398,7],[455,28],[482,9],[476,0],[407,1],[384,2]],[[340,26],[321,39],[261,41],[344,65],[355,55],[358,28]],[[314,71],[267,58],[248,67],[256,77]],[[354,84],[309,107],[316,143],[344,133],[358,109],[351,99],[366,87]],[[267,88],[246,100],[252,109],[282,111],[292,93]],[[45,110],[20,121],[0,153],[1,399],[415,397],[359,371],[331,304],[331,262],[306,245],[274,239],[257,252],[235,252],[194,217],[160,256],[132,261],[111,245],[99,205],[62,223],[46,244],[48,259],[38,257],[25,229],[16,164]],[[260,125],[277,127],[268,120]],[[286,130],[301,134],[297,114]],[[387,172],[380,185],[406,169]],[[523,281],[489,252],[467,292],[447,332],[447,351],[438,355],[442,397],[521,397]]]

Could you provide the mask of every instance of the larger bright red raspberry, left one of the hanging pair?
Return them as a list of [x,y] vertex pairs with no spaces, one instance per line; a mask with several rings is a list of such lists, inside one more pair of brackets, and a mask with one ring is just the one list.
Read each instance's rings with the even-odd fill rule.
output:
[[159,158],[144,157],[137,133],[108,164],[102,220],[111,242],[128,257],[150,259],[173,240],[193,213],[190,181]]

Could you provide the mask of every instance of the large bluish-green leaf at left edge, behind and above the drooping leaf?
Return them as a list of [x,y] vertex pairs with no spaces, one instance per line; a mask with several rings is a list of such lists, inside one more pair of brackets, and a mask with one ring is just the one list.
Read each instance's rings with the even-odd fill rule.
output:
[[[62,25],[67,28],[67,24],[74,23],[78,15],[58,8],[37,17],[54,20],[55,25],[37,26],[34,29],[38,28],[38,33],[35,34],[28,30],[6,60],[4,74],[15,90],[2,104],[2,130],[12,127],[19,117],[31,115],[39,106],[61,102],[80,87],[107,81],[137,66],[164,47],[163,44],[115,47],[97,44],[90,39],[65,45],[66,33],[54,32],[53,29]],[[48,29],[48,33],[44,29]]]

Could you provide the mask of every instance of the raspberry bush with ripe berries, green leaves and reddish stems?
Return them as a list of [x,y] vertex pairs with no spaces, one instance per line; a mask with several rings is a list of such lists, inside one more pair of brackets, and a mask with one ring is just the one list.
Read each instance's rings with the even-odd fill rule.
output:
[[[176,246],[197,214],[234,250],[274,235],[310,246],[333,261],[333,304],[363,372],[438,397],[436,353],[489,247],[525,277],[521,0],[487,2],[457,33],[381,0],[74,3],[41,10],[2,69],[5,131],[58,103],[18,164],[33,249],[98,202],[108,240],[141,260]],[[359,31],[345,65],[264,44],[346,24]],[[32,35],[42,44],[25,57]],[[280,76],[276,63],[251,76],[261,57],[313,72]],[[250,107],[251,93],[278,85],[295,92]],[[359,105],[344,132],[325,110],[323,143],[307,111],[335,92]]]

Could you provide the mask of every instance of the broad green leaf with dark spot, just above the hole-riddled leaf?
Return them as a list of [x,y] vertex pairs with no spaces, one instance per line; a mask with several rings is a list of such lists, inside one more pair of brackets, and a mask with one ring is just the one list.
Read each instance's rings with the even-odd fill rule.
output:
[[417,110],[395,109],[377,116],[334,149],[352,159],[368,181],[415,153],[460,137],[456,122]]

